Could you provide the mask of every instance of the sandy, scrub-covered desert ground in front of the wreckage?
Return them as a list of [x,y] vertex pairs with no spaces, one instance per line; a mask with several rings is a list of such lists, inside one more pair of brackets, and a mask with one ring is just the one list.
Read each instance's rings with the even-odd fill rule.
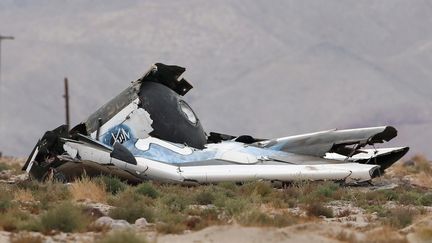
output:
[[419,155],[362,185],[65,184],[32,180],[23,163],[0,159],[0,242],[432,242],[432,167]]

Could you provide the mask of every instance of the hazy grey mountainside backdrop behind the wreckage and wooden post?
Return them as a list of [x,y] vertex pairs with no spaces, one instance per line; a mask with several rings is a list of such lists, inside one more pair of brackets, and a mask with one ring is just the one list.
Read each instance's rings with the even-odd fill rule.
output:
[[139,78],[187,68],[207,131],[282,137],[394,125],[432,156],[429,1],[0,1],[0,151],[26,156]]

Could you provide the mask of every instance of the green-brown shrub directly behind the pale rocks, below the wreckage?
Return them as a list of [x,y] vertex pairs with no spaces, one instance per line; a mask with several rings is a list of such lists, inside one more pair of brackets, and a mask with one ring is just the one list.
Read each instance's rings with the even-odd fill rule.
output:
[[124,219],[134,223],[138,218],[144,217],[148,222],[154,221],[153,209],[148,206],[149,202],[132,189],[119,194],[113,204],[116,208],[112,209],[109,215],[114,219]]

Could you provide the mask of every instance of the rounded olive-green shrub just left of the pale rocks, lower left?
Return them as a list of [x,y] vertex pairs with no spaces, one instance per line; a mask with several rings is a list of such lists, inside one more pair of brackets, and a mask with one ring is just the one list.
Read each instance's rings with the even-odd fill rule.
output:
[[77,232],[85,229],[90,220],[83,214],[81,208],[69,202],[58,204],[45,212],[40,223],[45,232],[58,230],[62,232]]

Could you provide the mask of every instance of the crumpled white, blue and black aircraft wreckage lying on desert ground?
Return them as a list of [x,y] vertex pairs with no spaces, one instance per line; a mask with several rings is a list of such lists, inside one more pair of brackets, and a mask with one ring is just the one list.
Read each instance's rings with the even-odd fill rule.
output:
[[[379,148],[396,137],[391,126],[328,130],[257,139],[205,133],[183,96],[185,68],[154,64],[140,79],[70,131],[48,131],[23,170],[33,178],[70,181],[115,175],[131,183],[337,180],[380,176],[408,147]],[[372,148],[366,148],[372,146]]]

